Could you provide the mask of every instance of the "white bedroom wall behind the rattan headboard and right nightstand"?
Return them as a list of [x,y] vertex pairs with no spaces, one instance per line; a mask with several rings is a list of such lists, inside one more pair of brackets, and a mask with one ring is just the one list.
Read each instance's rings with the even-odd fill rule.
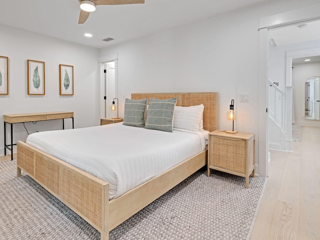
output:
[[[234,99],[234,128],[258,139],[259,18],[312,3],[266,1],[101,49],[118,56],[119,115],[132,92],[217,91],[219,128],[232,127],[226,111]],[[239,102],[240,93],[249,102]]]

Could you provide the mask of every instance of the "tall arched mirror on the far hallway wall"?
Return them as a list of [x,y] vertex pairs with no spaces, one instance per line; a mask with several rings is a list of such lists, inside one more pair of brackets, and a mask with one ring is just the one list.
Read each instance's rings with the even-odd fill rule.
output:
[[305,81],[305,120],[320,120],[320,77],[312,76]]

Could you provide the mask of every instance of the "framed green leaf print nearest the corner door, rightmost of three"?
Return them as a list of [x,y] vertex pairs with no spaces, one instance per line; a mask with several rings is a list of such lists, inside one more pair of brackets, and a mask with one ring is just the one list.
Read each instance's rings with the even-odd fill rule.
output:
[[59,64],[60,95],[73,95],[73,66]]

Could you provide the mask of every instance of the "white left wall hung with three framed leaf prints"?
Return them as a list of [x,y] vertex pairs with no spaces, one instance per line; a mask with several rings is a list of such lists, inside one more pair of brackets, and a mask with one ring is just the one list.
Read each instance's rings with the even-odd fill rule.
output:
[[[0,95],[0,155],[4,154],[3,114],[73,111],[74,127],[99,124],[98,49],[1,25],[0,32],[0,55],[9,58],[9,94]],[[45,95],[27,94],[27,59],[45,62]],[[59,64],[73,65],[73,96],[59,95]],[[62,120],[25,126],[29,133],[61,129]],[[6,127],[9,135],[9,124]],[[65,128],[71,127],[71,120],[65,119]],[[27,136],[22,123],[14,124],[13,132],[14,142]]]

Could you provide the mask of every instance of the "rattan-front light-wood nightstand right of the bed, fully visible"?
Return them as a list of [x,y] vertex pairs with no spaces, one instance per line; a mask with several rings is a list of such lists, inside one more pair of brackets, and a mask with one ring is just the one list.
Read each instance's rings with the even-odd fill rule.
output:
[[208,137],[207,176],[210,168],[245,177],[249,186],[249,175],[254,177],[254,134],[212,131]]

